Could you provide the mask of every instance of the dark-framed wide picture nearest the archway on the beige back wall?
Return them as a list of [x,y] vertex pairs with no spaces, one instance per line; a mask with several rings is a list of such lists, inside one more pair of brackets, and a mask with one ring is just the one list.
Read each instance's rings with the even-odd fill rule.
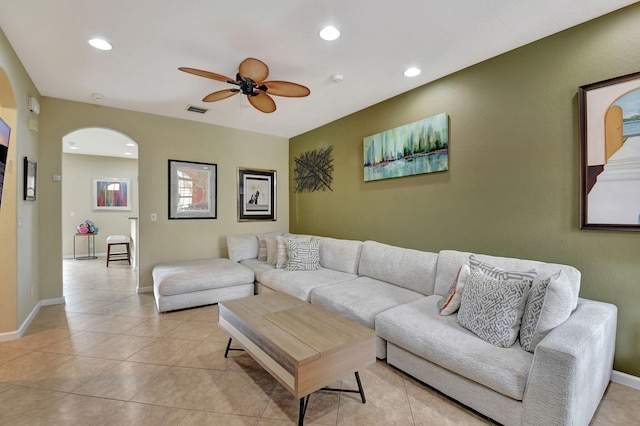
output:
[[216,219],[218,165],[169,160],[169,219]]

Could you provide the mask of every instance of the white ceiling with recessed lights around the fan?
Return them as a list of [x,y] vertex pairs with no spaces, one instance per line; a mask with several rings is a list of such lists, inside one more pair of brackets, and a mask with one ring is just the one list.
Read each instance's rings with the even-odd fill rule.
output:
[[[0,27],[40,94],[293,137],[630,0],[0,0]],[[342,32],[318,37],[325,25]],[[87,40],[105,37],[113,50]],[[269,79],[306,85],[264,114],[245,96],[201,99],[255,57]],[[402,75],[418,66],[422,74]],[[341,83],[331,80],[342,74]],[[589,82],[585,82],[589,83]],[[93,93],[104,96],[96,101]],[[188,105],[209,108],[204,115]]]

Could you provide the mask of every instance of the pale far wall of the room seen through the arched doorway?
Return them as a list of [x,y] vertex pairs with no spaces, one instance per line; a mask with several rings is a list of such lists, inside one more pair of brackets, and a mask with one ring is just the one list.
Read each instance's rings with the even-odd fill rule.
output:
[[[95,252],[107,252],[109,235],[129,235],[129,217],[138,216],[138,160],[95,155],[62,154],[62,254],[73,256],[76,226],[91,220],[99,228]],[[94,210],[93,180],[128,179],[131,182],[131,210]],[[87,252],[86,237],[76,242],[76,254]]]

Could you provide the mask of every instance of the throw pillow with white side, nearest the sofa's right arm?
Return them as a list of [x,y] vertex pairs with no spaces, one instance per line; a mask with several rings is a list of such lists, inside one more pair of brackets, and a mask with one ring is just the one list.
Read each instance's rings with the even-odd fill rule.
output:
[[533,352],[544,336],[569,318],[572,308],[573,291],[563,271],[535,283],[522,316],[522,348]]

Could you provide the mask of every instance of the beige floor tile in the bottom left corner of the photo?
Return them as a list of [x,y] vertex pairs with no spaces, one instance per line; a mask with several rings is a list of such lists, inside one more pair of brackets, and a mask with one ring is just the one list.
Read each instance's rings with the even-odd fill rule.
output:
[[29,416],[64,396],[63,392],[13,386],[0,394],[0,424],[24,424]]

